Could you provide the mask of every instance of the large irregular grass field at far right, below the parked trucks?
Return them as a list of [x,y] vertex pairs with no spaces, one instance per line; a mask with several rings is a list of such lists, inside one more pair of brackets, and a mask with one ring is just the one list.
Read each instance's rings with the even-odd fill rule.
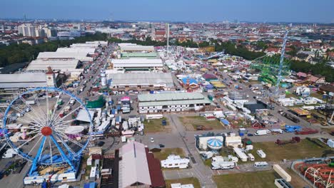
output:
[[[280,161],[304,159],[305,157],[321,157],[325,150],[330,150],[330,147],[323,145],[320,147],[309,140],[301,140],[299,143],[276,145],[274,142],[255,142],[253,143],[254,150],[251,153],[255,157],[255,161]],[[265,159],[261,159],[256,150],[263,150],[265,152]]]

